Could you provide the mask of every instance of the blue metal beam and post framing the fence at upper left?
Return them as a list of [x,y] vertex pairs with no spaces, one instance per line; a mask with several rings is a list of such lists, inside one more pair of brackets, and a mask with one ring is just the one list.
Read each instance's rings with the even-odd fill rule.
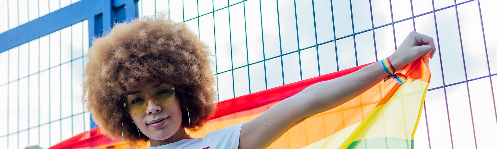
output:
[[[0,34],[0,53],[88,20],[88,46],[114,23],[138,17],[138,0],[81,0]],[[96,127],[90,115],[90,128]]]

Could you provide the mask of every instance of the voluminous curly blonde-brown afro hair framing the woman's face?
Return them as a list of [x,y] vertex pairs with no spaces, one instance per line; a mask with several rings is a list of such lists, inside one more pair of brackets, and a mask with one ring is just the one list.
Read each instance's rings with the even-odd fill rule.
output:
[[149,141],[131,123],[122,106],[130,86],[154,80],[176,88],[188,126],[199,130],[214,113],[216,92],[207,46],[184,23],[172,22],[166,14],[115,24],[104,37],[93,40],[83,73],[83,102],[93,120],[110,138]]

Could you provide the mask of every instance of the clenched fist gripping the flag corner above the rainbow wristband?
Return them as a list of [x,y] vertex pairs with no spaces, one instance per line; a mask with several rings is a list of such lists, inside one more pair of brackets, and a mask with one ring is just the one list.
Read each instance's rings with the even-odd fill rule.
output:
[[[435,51],[433,38],[417,32],[411,32],[389,58],[394,69],[400,70],[421,56],[429,55],[432,58]],[[430,53],[428,54],[428,52]]]

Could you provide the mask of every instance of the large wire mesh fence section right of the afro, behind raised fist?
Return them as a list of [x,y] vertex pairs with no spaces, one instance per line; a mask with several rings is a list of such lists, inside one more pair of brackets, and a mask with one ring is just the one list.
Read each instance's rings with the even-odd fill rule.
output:
[[492,0],[140,0],[169,10],[215,55],[219,101],[386,58],[434,38],[417,148],[491,148],[497,132]]

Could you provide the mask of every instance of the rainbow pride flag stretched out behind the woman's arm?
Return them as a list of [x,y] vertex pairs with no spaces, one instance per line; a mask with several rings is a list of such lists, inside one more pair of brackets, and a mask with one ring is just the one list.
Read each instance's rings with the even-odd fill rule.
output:
[[[210,132],[248,122],[314,83],[353,73],[367,65],[370,64],[221,101],[211,120],[191,136],[203,138]],[[407,76],[402,85],[394,79],[381,81],[350,101],[296,125],[268,149],[413,149],[430,80],[428,57],[417,59],[398,73]],[[97,127],[51,149],[126,149],[130,145],[136,144],[109,140]]]

